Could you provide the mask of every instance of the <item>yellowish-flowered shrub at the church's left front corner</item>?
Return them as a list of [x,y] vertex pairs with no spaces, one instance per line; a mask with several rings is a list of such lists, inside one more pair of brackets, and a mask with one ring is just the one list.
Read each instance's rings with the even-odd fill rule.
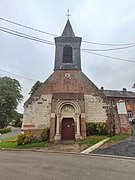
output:
[[17,137],[18,146],[31,143],[33,141],[33,133],[31,131],[27,133],[20,133]]

